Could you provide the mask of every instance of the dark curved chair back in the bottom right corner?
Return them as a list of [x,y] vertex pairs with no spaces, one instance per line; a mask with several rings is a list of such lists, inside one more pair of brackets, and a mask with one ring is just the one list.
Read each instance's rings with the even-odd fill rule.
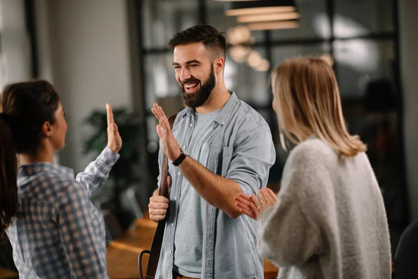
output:
[[393,279],[418,278],[418,220],[408,225],[399,239],[394,257]]

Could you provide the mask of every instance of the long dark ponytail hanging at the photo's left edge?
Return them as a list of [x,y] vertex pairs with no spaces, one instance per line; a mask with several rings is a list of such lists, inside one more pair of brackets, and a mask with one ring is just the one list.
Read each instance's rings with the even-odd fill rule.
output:
[[8,115],[0,112],[0,236],[18,213],[17,158]]

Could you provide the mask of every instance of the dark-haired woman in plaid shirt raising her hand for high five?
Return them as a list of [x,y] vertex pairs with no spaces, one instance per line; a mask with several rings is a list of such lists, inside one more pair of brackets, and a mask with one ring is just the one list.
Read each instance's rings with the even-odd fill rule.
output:
[[0,108],[0,230],[12,243],[20,278],[107,278],[104,221],[89,197],[122,146],[111,107],[107,146],[76,179],[71,169],[54,165],[67,123],[51,84],[10,84]]

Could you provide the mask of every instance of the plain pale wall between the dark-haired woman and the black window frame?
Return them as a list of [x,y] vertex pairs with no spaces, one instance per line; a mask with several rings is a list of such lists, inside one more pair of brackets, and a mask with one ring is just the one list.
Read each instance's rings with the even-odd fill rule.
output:
[[[82,120],[105,103],[132,109],[126,0],[37,0],[40,77],[51,80],[67,113],[60,163],[81,171]],[[88,133],[88,132],[87,132]]]

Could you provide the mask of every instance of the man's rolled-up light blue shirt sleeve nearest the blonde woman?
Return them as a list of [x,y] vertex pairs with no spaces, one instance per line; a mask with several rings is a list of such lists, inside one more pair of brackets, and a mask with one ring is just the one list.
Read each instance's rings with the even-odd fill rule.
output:
[[242,193],[256,194],[256,190],[267,185],[275,160],[270,128],[258,126],[238,138],[225,178],[238,183]]

